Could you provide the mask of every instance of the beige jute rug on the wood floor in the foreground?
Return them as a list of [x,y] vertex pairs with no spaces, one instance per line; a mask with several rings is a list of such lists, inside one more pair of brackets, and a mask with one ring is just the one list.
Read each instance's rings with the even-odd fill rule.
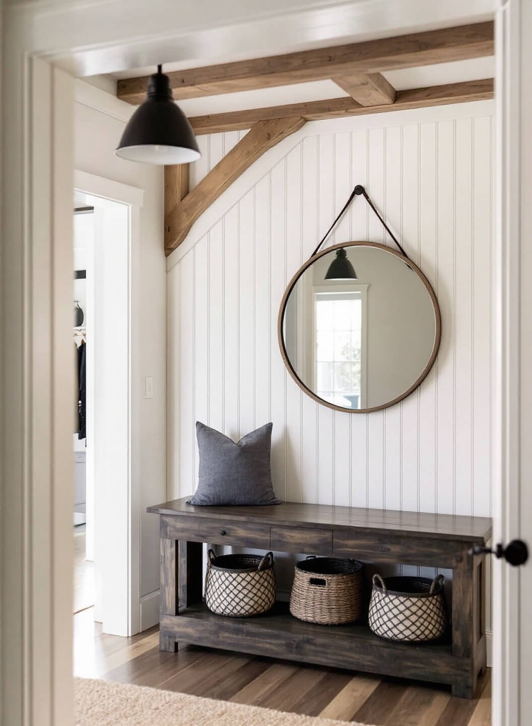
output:
[[74,691],[78,726],[346,726],[129,683],[75,678]]

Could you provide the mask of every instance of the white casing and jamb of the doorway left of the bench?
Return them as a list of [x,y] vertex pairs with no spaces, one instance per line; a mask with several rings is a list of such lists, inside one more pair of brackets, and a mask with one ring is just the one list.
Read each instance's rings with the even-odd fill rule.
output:
[[[94,279],[87,324],[87,477],[94,478],[94,619],[112,635],[139,632],[140,481],[139,315],[131,295],[139,265],[137,187],[75,171],[74,186],[94,205]],[[89,273],[88,273],[89,274]],[[96,294],[97,290],[97,294]],[[90,326],[90,328],[89,328]],[[88,502],[89,504],[90,502]],[[88,528],[91,522],[88,522]],[[91,532],[88,529],[88,537]]]

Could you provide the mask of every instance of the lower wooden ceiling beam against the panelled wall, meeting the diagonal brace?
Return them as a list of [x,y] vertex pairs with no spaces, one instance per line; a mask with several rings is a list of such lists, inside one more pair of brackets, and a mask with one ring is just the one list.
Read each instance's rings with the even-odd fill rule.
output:
[[218,131],[249,129],[258,121],[268,121],[272,118],[298,116],[306,121],[319,121],[340,116],[356,116],[426,106],[443,106],[450,103],[483,101],[493,97],[493,78],[485,78],[482,81],[464,81],[462,83],[449,83],[445,86],[429,86],[422,89],[397,91],[396,101],[393,104],[362,106],[350,97],[341,97],[285,106],[252,108],[247,111],[230,111],[228,113],[194,116],[189,118],[189,121],[197,135],[216,134]]

